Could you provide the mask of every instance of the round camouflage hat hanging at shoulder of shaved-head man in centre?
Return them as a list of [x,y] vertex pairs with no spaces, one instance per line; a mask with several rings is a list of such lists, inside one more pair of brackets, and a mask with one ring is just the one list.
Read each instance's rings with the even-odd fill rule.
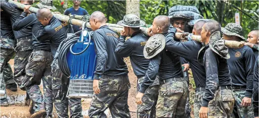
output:
[[165,37],[162,34],[151,36],[143,50],[145,58],[149,59],[161,52],[165,46]]

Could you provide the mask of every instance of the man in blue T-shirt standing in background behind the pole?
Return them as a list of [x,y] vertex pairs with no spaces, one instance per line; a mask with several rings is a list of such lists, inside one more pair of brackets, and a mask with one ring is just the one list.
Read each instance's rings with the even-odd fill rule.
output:
[[[66,9],[64,15],[69,15],[69,14],[71,14],[71,15],[76,14],[76,15],[81,15],[81,16],[88,15],[87,10],[81,8],[80,4],[81,4],[80,0],[73,1],[73,7]],[[82,27],[73,25],[73,30],[74,30],[74,32],[78,32],[78,31],[82,30]]]

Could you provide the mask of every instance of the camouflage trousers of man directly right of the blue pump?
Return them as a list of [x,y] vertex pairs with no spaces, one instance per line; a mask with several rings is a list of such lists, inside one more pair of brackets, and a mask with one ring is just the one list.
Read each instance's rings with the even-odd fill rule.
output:
[[104,111],[109,108],[112,117],[131,117],[127,105],[128,76],[103,76],[99,80],[101,92],[94,94],[89,109],[89,117],[107,117]]

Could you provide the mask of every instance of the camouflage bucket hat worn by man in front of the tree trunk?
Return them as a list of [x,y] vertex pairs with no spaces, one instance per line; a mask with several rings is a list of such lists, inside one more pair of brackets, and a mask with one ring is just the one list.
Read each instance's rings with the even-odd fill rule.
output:
[[119,21],[117,24],[125,27],[142,27],[146,23],[140,20],[137,15],[127,14],[123,17],[123,20]]

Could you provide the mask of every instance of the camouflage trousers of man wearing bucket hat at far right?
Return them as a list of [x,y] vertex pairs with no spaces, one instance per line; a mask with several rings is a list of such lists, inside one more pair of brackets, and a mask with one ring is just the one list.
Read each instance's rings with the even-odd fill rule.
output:
[[245,89],[233,90],[233,95],[235,98],[235,104],[231,117],[253,117],[253,104],[251,103],[248,107],[243,107],[241,105],[242,99],[245,97]]

